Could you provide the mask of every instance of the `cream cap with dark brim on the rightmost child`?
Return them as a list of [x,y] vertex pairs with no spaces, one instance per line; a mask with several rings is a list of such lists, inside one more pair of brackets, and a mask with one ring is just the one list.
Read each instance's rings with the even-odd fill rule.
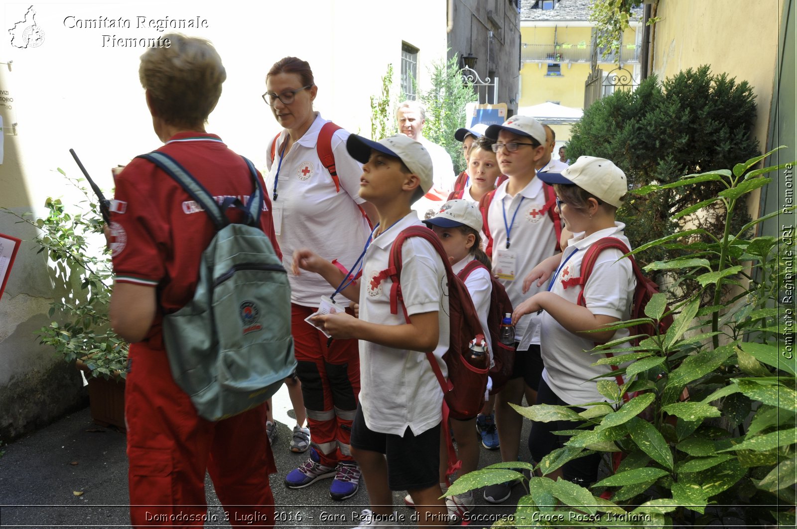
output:
[[615,207],[622,206],[622,196],[628,192],[622,169],[611,160],[595,156],[579,156],[561,173],[537,173],[537,178],[548,184],[575,184]]

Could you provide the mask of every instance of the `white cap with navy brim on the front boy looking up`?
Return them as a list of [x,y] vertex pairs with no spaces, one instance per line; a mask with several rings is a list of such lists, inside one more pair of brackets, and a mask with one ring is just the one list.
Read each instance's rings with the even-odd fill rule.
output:
[[418,176],[424,193],[432,188],[432,157],[421,143],[403,134],[396,134],[375,142],[356,134],[349,135],[346,150],[359,163],[367,163],[371,150],[400,159],[406,168]]

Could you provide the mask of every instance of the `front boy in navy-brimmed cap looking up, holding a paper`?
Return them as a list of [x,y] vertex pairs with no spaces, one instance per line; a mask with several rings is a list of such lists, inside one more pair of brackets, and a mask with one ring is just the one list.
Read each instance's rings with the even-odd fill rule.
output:
[[[351,135],[351,156],[363,163],[359,196],[379,212],[379,224],[363,249],[363,276],[351,280],[335,264],[309,250],[294,253],[293,268],[320,273],[340,293],[359,300],[359,319],[338,312],[312,322],[335,339],[359,339],[359,407],[351,429],[351,454],[363,472],[373,511],[361,526],[393,526],[391,491],[410,492],[418,524],[446,523],[438,482],[442,390],[426,360],[433,351],[444,376],[449,347],[446,268],[434,247],[420,237],[402,245],[402,310],[391,313],[388,258],[395,237],[421,225],[410,209],[432,186],[431,159],[420,143],[395,135],[378,143]],[[356,272],[356,266],[351,274]]]

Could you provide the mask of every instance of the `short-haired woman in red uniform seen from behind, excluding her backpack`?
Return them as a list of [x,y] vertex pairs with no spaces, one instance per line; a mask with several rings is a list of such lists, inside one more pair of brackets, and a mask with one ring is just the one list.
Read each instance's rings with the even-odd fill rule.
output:
[[[155,134],[165,143],[159,151],[214,197],[249,196],[252,179],[244,160],[205,131],[226,79],[221,58],[202,39],[164,39],[170,47],[148,49],[139,68]],[[177,182],[144,159],[133,159],[118,175],[115,198],[108,229],[116,274],[111,324],[131,343],[125,414],[132,525],[202,527],[208,471],[234,527],[271,527],[269,473],[276,468],[265,404],[218,422],[198,417],[171,377],[163,349],[163,314],[194,296],[214,225]],[[266,196],[261,228],[280,255],[270,206]],[[230,214],[230,220],[241,218]]]

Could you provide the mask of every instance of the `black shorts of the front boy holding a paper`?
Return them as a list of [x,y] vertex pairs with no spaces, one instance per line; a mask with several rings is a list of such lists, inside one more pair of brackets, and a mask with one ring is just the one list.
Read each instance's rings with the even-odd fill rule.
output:
[[423,490],[440,482],[439,423],[417,436],[409,427],[403,437],[374,432],[365,424],[363,408],[358,404],[349,443],[355,449],[385,454],[391,491]]

